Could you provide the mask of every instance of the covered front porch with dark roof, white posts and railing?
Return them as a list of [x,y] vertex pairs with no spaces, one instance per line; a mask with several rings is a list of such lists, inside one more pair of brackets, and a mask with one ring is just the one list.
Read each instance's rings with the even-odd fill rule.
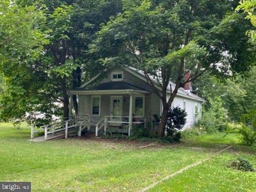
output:
[[125,82],[107,82],[93,89],[69,91],[70,108],[71,98],[78,95],[78,116],[89,117],[89,131],[95,131],[96,136],[99,132],[130,135],[132,125],[145,126],[145,95],[148,93]]

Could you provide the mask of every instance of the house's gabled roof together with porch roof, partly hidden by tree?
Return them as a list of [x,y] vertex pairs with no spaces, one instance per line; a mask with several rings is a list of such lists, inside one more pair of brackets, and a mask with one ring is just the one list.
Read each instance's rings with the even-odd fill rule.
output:
[[[145,75],[143,73],[142,70],[139,70],[139,69],[136,69],[136,68],[133,68],[133,67],[125,67],[124,70],[128,71],[129,73],[137,76],[138,78],[142,79],[143,81],[147,82],[146,78],[145,78]],[[106,71],[106,70],[105,70]],[[104,71],[104,72],[105,72]],[[101,74],[91,78],[88,82],[86,82],[85,84],[83,84],[81,87],[79,87],[77,90],[75,91],[93,91],[93,90],[99,90],[99,89],[106,89],[106,90],[117,90],[117,88],[115,87],[118,87],[118,88],[122,88],[122,90],[126,90],[126,89],[123,89],[123,87],[133,87],[132,89],[130,90],[137,90],[137,89],[140,89],[140,90],[137,90],[137,91],[142,91],[142,89],[138,86],[134,86],[134,85],[131,85],[129,83],[126,83],[126,82],[123,82],[121,83],[122,81],[120,82],[107,82],[107,83],[102,83],[102,84],[99,84],[99,85],[96,85],[94,87],[92,87],[91,89],[87,89],[85,86],[90,84],[92,81],[94,81],[94,79],[97,79]],[[157,81],[156,81],[156,77],[150,75],[149,76],[151,81],[153,81],[155,83],[155,86],[161,90],[161,88],[159,86],[157,86]],[[175,89],[175,83],[173,82],[169,82],[169,86],[167,87],[167,91],[171,91],[170,89],[170,85],[172,86],[172,90]],[[106,88],[104,88],[106,86]],[[113,86],[113,87],[111,87]],[[111,88],[110,88],[111,87]],[[134,89],[135,88],[135,89]],[[121,89],[118,89],[118,90],[121,90]],[[146,91],[146,90],[143,90],[143,91]],[[183,97],[183,98],[189,98],[189,99],[193,99],[193,100],[197,100],[197,101],[201,101],[201,102],[204,102],[204,99],[202,99],[201,97],[198,97],[197,95],[195,95],[194,93],[191,93],[191,92],[187,92],[185,89],[183,89],[183,87],[180,87],[179,90],[178,90],[178,93],[177,95],[179,95],[180,97]]]

